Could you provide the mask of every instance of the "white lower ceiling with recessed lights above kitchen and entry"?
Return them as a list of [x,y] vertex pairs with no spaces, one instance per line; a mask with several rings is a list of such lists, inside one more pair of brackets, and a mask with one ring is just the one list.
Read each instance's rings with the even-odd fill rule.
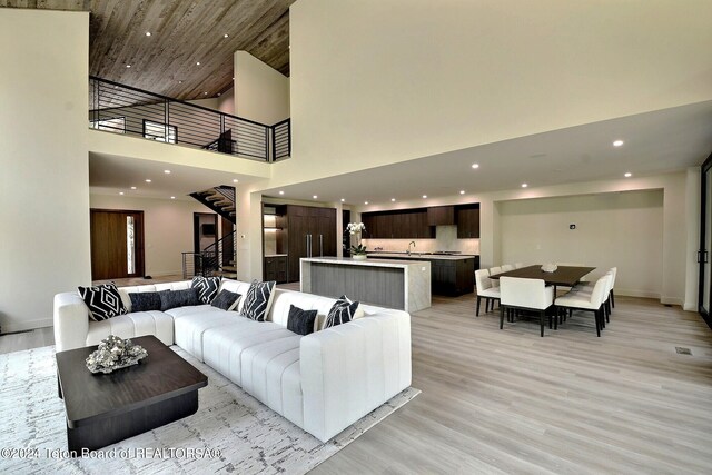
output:
[[[622,147],[613,140],[622,139]],[[169,146],[167,146],[169,147]],[[497,144],[424,157],[385,167],[264,191],[284,199],[338,201],[353,206],[388,206],[397,201],[530,188],[566,182],[620,179],[681,170],[701,165],[712,152],[712,101],[659,110],[596,123],[522,137]],[[291,158],[298,160],[298,157]],[[472,164],[478,164],[473,169]],[[197,167],[90,154],[92,192],[169,199],[217,185],[255,180]],[[151,184],[145,180],[150,178]],[[137,190],[130,187],[136,186]],[[284,195],[279,195],[279,191]],[[189,198],[188,198],[189,199]]]

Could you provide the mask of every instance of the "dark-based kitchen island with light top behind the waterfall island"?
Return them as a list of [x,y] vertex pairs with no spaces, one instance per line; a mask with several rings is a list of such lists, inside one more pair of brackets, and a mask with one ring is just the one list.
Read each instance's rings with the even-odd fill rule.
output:
[[425,260],[431,263],[431,284],[434,295],[459,296],[475,289],[475,270],[479,268],[479,256],[451,251],[436,253],[368,253],[372,258]]

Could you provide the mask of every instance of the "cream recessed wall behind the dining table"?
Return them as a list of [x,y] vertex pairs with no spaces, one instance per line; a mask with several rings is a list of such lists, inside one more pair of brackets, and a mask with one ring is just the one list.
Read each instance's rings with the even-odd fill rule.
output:
[[596,267],[596,274],[615,266],[616,293],[662,296],[662,189],[502,201],[497,207],[502,263],[581,263]]

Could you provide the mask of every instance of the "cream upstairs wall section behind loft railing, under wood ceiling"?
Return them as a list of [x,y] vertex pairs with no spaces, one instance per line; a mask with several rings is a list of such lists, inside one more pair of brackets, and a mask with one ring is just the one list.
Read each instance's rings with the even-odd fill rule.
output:
[[289,117],[289,78],[246,51],[235,52],[235,115],[267,126]]

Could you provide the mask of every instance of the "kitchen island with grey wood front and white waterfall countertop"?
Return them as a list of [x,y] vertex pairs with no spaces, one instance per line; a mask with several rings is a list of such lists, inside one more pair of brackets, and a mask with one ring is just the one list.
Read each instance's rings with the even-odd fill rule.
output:
[[300,290],[406,311],[431,306],[431,263],[348,257],[299,259]]

